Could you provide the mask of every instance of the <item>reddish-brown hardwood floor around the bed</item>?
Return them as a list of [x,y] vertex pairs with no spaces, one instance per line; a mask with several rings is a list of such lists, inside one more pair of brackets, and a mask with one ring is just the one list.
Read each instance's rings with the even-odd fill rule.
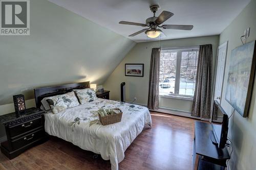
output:
[[[119,169],[192,169],[194,119],[151,112],[153,128],[145,129],[125,151]],[[0,169],[111,169],[110,161],[70,142],[51,137],[9,160],[0,152]]]

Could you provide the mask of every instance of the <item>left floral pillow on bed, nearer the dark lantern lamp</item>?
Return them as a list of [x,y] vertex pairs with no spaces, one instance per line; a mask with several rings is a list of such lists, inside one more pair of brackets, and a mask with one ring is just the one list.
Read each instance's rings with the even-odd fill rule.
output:
[[46,98],[53,114],[79,105],[74,91]]

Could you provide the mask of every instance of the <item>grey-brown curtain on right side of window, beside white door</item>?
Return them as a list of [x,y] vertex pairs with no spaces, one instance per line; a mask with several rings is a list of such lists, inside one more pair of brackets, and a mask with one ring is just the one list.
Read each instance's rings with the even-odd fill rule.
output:
[[196,88],[191,115],[210,118],[211,106],[212,45],[200,45]]

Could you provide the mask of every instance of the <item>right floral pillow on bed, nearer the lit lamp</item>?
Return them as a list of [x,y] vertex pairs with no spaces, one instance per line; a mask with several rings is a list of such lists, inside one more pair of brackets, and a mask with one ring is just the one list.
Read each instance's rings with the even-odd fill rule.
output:
[[97,99],[96,92],[90,88],[74,89],[80,104],[92,102]]

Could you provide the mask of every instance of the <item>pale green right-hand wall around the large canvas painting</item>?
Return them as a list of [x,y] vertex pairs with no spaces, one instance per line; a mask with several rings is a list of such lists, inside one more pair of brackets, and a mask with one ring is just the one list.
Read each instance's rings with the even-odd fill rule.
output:
[[[221,105],[226,112],[232,112],[232,107],[225,100],[227,76],[229,68],[229,58],[231,50],[242,45],[240,37],[244,30],[250,27],[250,37],[247,42],[256,39],[256,0],[252,0],[246,8],[234,19],[230,25],[221,33],[220,44],[228,41],[227,62]],[[232,170],[255,169],[256,167],[256,83],[252,91],[249,115],[243,118],[235,112],[229,120],[228,135],[232,139],[234,151],[229,161]]]

